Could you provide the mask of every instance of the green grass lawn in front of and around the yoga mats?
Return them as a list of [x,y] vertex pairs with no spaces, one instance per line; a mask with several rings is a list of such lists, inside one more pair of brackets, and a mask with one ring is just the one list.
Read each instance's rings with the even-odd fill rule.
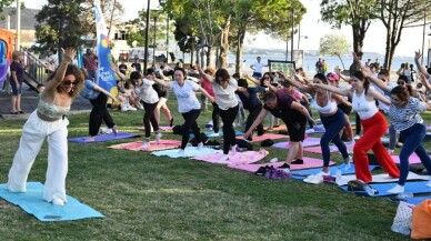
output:
[[[182,123],[174,100],[169,106],[174,122]],[[122,131],[137,132],[134,128],[142,125],[142,112],[112,111],[112,116]],[[88,114],[69,120],[70,137],[87,134]],[[201,125],[209,120],[210,112],[199,119]],[[1,121],[2,182],[23,122]],[[162,124],[167,122],[162,116]],[[180,139],[168,133],[163,138]],[[133,140],[139,139],[69,144],[67,193],[102,212],[104,219],[40,222],[0,200],[1,240],[407,240],[391,232],[397,204],[384,198],[108,148]],[[285,150],[268,150],[264,161],[285,158]],[[43,183],[47,157],[44,144],[29,181]],[[341,162],[339,154],[333,157]]]

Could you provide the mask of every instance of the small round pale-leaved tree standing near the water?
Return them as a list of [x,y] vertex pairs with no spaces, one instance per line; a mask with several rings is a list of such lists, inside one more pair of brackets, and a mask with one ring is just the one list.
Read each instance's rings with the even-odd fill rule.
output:
[[345,69],[345,67],[341,56],[347,54],[349,49],[350,43],[344,36],[325,34],[320,39],[320,54],[337,56],[340,59],[343,69]]

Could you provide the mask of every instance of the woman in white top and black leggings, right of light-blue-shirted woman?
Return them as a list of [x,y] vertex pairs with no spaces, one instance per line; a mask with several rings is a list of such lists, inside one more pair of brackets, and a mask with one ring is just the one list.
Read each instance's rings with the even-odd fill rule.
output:
[[225,69],[219,69],[216,77],[203,73],[204,78],[211,82],[216,96],[216,103],[219,108],[221,120],[223,121],[223,157],[220,162],[229,160],[229,150],[231,153],[237,151],[235,131],[233,121],[238,114],[239,102],[235,97],[238,82]]

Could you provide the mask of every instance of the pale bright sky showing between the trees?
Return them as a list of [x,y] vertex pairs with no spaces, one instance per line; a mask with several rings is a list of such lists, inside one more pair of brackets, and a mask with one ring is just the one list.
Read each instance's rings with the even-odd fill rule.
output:
[[[47,0],[21,0],[27,8],[41,9]],[[138,17],[138,11],[147,8],[147,0],[118,0],[124,7],[124,20],[134,19]],[[343,34],[350,43],[353,42],[351,34],[351,27],[342,27],[341,29],[331,29],[331,26],[321,21],[320,0],[301,0],[302,4],[307,7],[307,13],[301,21],[301,39],[300,49],[318,50],[320,39],[327,34]],[[151,0],[151,9],[158,8],[159,0]],[[431,33],[431,24],[427,28],[427,33]],[[395,56],[412,57],[414,51],[422,49],[422,27],[404,29],[401,41],[397,48]],[[307,38],[305,38],[307,37]],[[298,47],[298,36],[294,37],[294,48]],[[431,37],[425,37],[425,51],[431,48]],[[285,42],[271,39],[264,33],[258,36],[247,36],[247,47],[285,49]],[[290,43],[289,43],[290,46]],[[384,54],[385,48],[385,29],[380,21],[372,22],[367,32],[363,51],[378,52]]]

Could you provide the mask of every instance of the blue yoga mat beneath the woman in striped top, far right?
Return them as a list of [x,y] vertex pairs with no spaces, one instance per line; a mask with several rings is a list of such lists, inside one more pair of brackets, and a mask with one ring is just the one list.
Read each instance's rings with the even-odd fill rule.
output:
[[[411,193],[429,193],[431,192],[431,187],[427,187],[425,184],[428,181],[419,181],[419,182],[405,182],[404,189],[405,192],[411,192]],[[395,183],[371,183],[370,184],[372,189],[378,190],[379,193],[377,193],[373,197],[382,197],[382,195],[395,195],[392,193],[388,193],[388,190],[395,187]],[[340,189],[348,191],[347,185],[341,185]],[[359,192],[352,192],[361,195],[368,195],[367,192],[359,191]]]

